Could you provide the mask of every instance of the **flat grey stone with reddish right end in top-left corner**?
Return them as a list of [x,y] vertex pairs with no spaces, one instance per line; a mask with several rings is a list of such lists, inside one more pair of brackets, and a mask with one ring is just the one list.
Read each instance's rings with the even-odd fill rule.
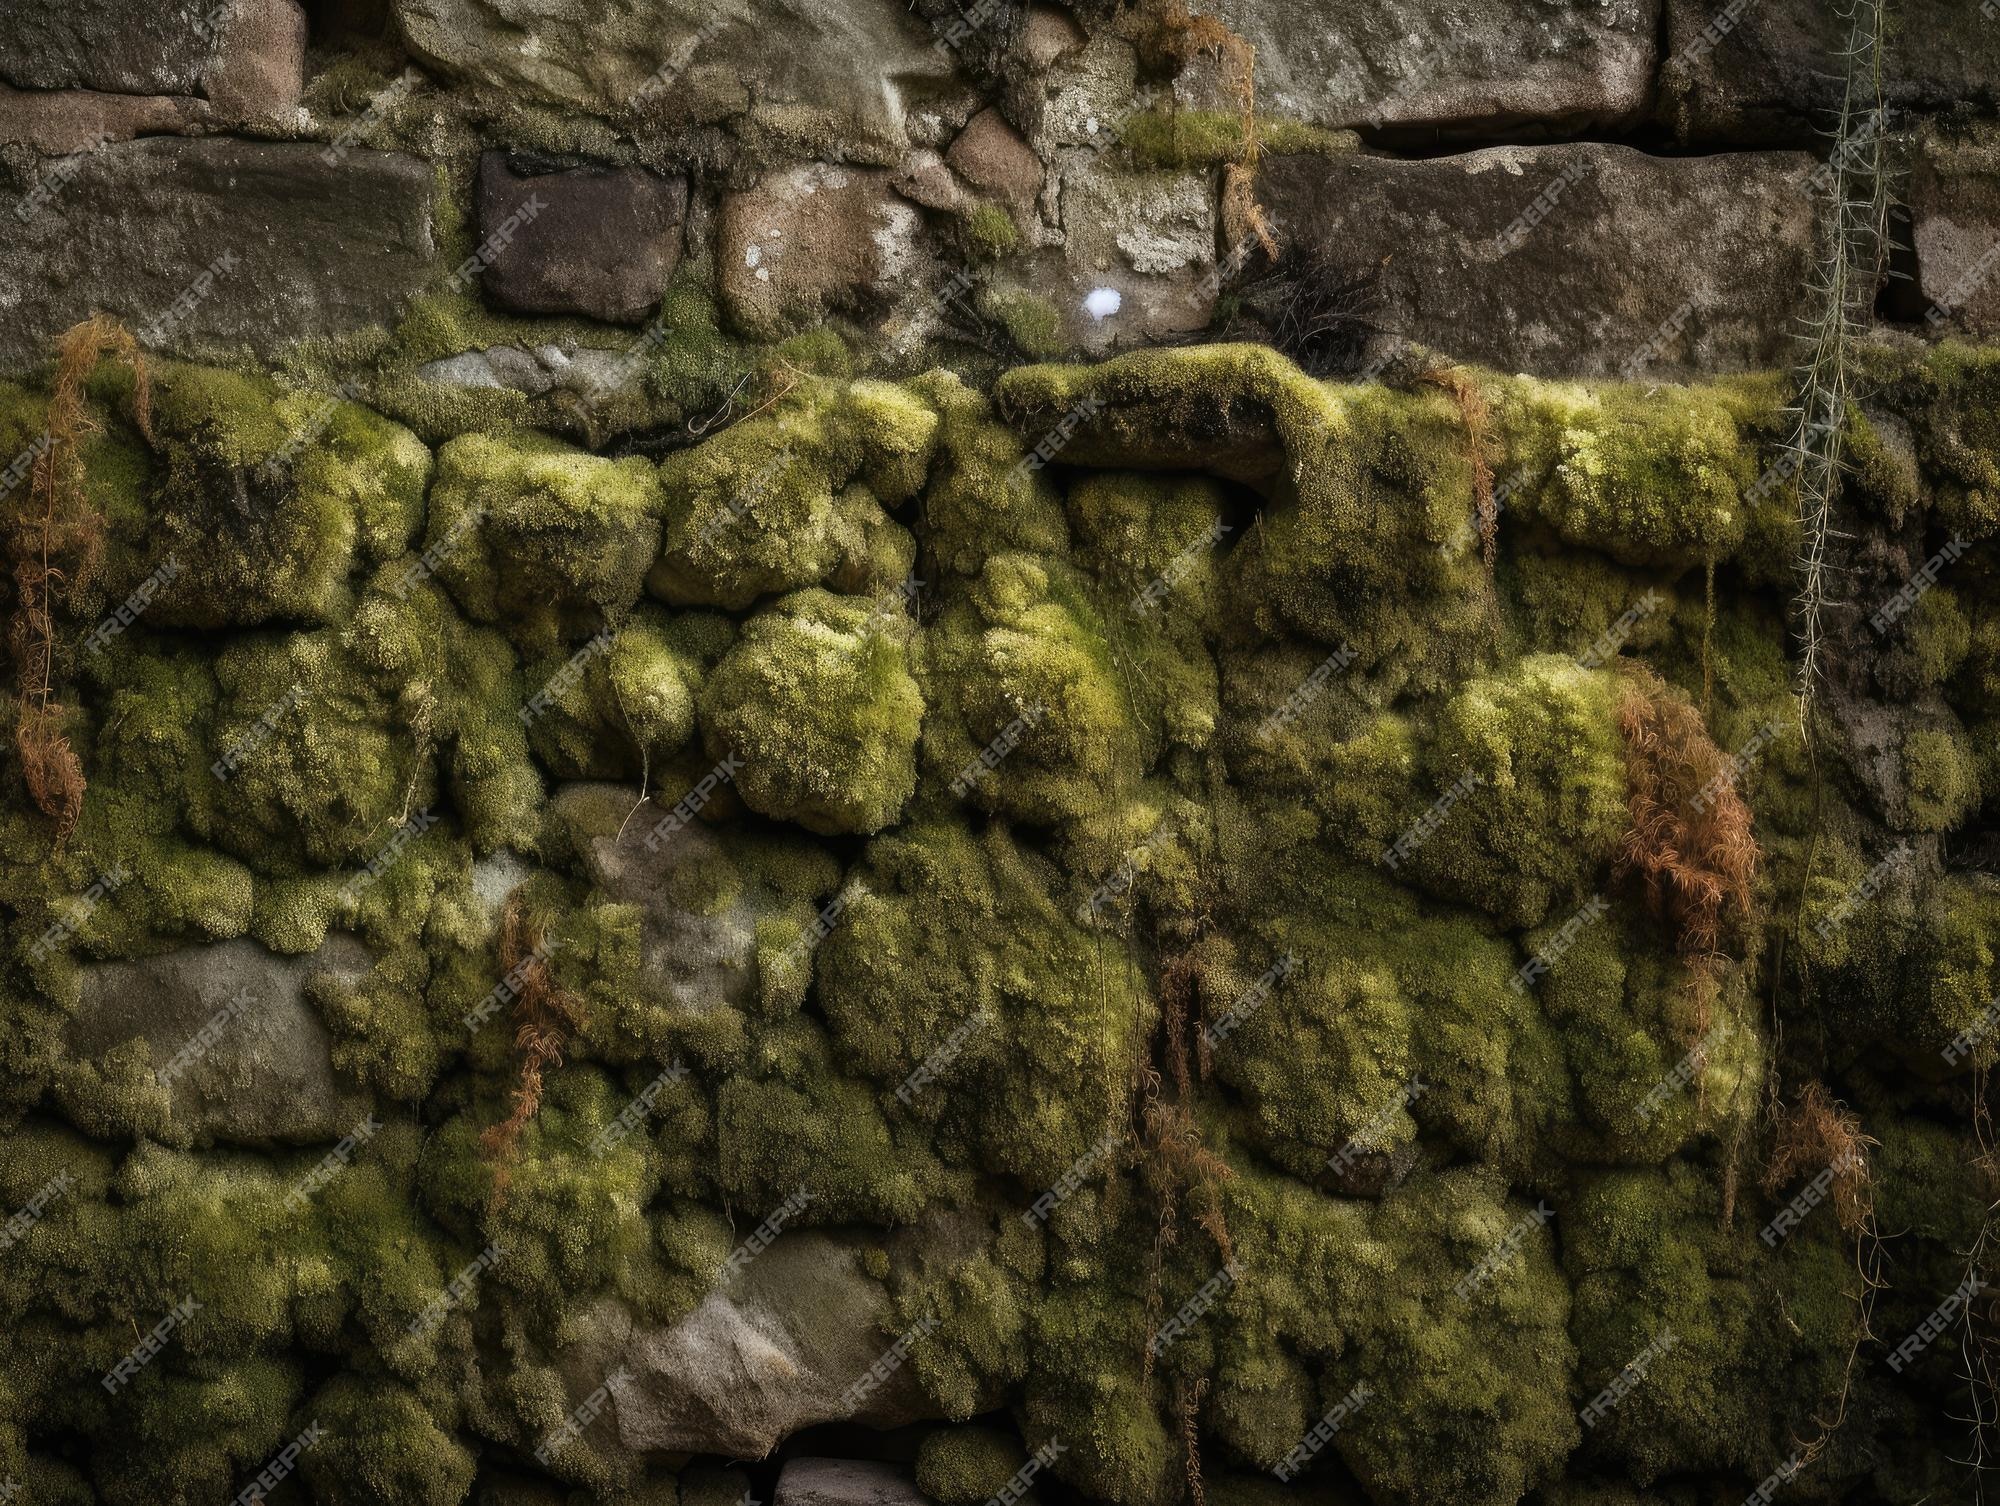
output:
[[8,0],[0,80],[34,90],[202,94],[236,110],[298,98],[296,0]]

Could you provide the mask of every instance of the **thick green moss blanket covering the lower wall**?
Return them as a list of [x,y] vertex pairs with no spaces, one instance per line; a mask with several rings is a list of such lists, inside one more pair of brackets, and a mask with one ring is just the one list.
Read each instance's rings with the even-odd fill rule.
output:
[[[698,334],[706,304],[676,300]],[[440,304],[404,344],[358,338],[344,358],[386,352],[406,374],[418,348],[498,338],[480,318]],[[668,340],[600,436],[734,372],[720,410],[742,356]],[[790,358],[850,364],[830,334]],[[1978,526],[1990,362],[1870,360],[1858,526],[1904,542]],[[1788,504],[1742,502],[1778,384],[1470,376],[1500,478],[1524,476],[1490,580],[1458,404],[1312,382],[1270,350],[1010,372],[994,402],[942,372],[794,376],[660,468],[464,436],[424,542],[472,528],[438,578],[412,552],[430,460],[392,424],[332,410],[282,486],[248,492],[250,528],[236,478],[318,400],[172,368],[154,456],[124,418],[128,380],[100,376],[98,594],[176,510],[228,544],[204,568],[250,584],[200,620],[162,600],[106,652],[64,654],[84,818],[52,850],[20,800],[0,812],[0,1216],[74,1176],[0,1252],[0,1476],[78,1506],[220,1500],[318,1418],[314,1498],[456,1504],[476,1464],[518,1490],[496,1450],[532,1446],[580,1398],[566,1366],[592,1314],[616,1304],[650,1328],[714,1302],[746,1218],[806,1188],[802,1222],[846,1226],[842,1258],[898,1324],[942,1318],[910,1356],[930,1414],[1008,1408],[1020,1426],[1020,1442],[942,1428],[920,1444],[920,1486],[944,1506],[984,1500],[1054,1440],[1064,1490],[1172,1506],[1198,1382],[1220,1506],[1276,1506],[1248,1472],[1354,1386],[1372,1400],[1286,1494],[1740,1496],[1822,1408],[1856,1334],[1834,1210],[1780,1248],[1756,1238],[1796,1190],[1756,1178],[1764,1074],[1798,1082],[1796,1062],[1766,1062],[1766,990],[1784,1040],[1878,1140],[1876,1218],[1898,1238],[1876,1332],[1912,1332],[1976,1234],[1976,1148],[1950,1104],[1992,1042],[1942,1052],[1984,1034],[2000,988],[1976,842],[2000,710],[1992,572],[1968,550],[1888,642],[1854,646],[1856,716],[1828,724],[1816,798],[1782,614]],[[1070,414],[1058,462],[1024,468]],[[0,388],[0,440],[38,424],[40,398]],[[772,498],[738,506],[780,456]],[[916,610],[894,594],[912,572],[928,576]],[[638,600],[642,576],[670,606]],[[1724,752],[1778,730],[1740,788],[1760,904],[1790,936],[1782,980],[1758,962],[1698,990],[1638,896],[1610,888],[1620,680],[1570,658],[1608,630],[1704,688]],[[1870,720],[1898,700],[1916,710]],[[1048,714],[1016,726],[1030,706]],[[670,804],[722,756],[740,768],[702,820],[642,858],[640,782]],[[570,784],[544,802],[546,780]],[[426,810],[436,824],[400,838]],[[1884,820],[1964,836],[1942,868],[1912,838],[1848,910],[1896,840]],[[1422,840],[1382,862],[1412,828]],[[132,878],[88,908],[114,862]],[[480,1136],[520,1054],[508,1022],[466,1014],[504,972],[506,894],[546,926],[580,1014],[502,1178]],[[74,936],[38,950],[58,918]],[[286,1194],[324,1146],[164,1148],[142,1042],[68,1060],[84,960],[238,934],[296,956],[334,932],[374,964],[308,1002],[388,1124],[304,1208]],[[1516,988],[1558,936],[1550,972]],[[1778,954],[1752,928],[1746,956]],[[1156,1000],[1212,1028],[1184,1096]],[[1696,1060],[1704,1022],[1726,1030]],[[1222,1260],[1204,1194],[1166,1222],[1150,1074],[1230,1172],[1212,1188],[1238,1276],[1148,1376],[1148,1336]],[[638,1130],[606,1144],[646,1094]],[[1108,1130],[1126,1136],[1104,1148]],[[1060,1200],[1024,1220],[1044,1188]],[[1536,1200],[1552,1228],[1528,1218]],[[1464,1288],[1516,1230],[1518,1254]],[[500,1264],[412,1334],[490,1242]],[[188,1294],[196,1320],[130,1392],[100,1396],[96,1376]],[[1576,1408],[1666,1328],[1674,1346],[1580,1430]],[[870,1320],[866,1340],[888,1336]],[[1828,1490],[1870,1474],[1854,1488],[1954,1498],[1934,1462],[1946,1350],[1856,1372]],[[608,1446],[566,1452],[560,1474],[606,1498],[676,1494]],[[688,1470],[678,1494],[702,1488]]]

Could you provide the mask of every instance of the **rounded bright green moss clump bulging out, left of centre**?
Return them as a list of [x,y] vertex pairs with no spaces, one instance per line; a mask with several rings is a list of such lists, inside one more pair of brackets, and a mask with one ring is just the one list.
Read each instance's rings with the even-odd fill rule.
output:
[[804,590],[744,624],[702,688],[702,732],[744,802],[812,832],[876,832],[916,792],[924,698],[910,622]]

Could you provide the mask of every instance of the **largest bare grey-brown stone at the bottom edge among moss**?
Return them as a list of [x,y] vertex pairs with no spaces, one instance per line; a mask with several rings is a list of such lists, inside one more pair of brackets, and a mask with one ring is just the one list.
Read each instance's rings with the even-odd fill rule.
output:
[[816,1422],[894,1428],[936,1416],[910,1366],[858,1410],[842,1400],[898,1328],[858,1246],[830,1234],[784,1234],[668,1328],[646,1328],[606,1300],[580,1330],[564,1372],[578,1396],[624,1372],[610,1392],[630,1450],[762,1458]]

